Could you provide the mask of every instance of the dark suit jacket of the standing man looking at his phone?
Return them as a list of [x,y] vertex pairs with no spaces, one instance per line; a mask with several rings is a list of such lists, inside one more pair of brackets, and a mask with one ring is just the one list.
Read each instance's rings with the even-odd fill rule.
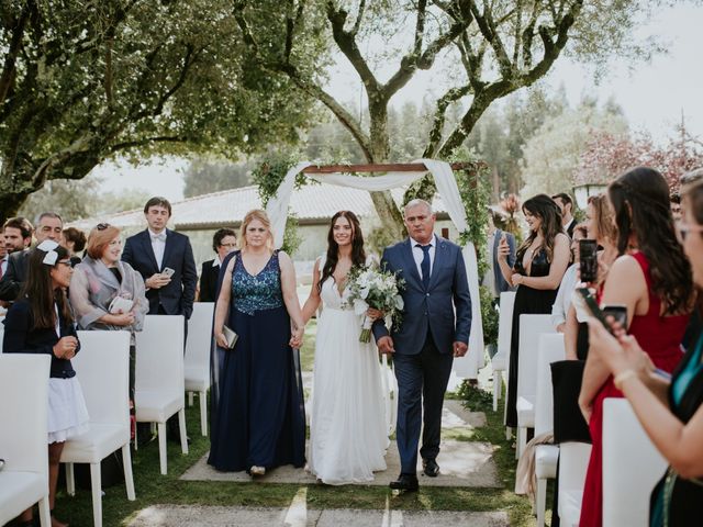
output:
[[198,271],[188,236],[166,229],[166,247],[160,269],[156,265],[148,229],[127,238],[122,251],[122,260],[130,264],[144,280],[161,272],[166,267],[174,269],[176,272],[168,285],[149,289],[146,292],[149,314],[157,314],[160,305],[168,315],[183,315],[190,318],[196,299]]

